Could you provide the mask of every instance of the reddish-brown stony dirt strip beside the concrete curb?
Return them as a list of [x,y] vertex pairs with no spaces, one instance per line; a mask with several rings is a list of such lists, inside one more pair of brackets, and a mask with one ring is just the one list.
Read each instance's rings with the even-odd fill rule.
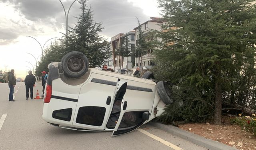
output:
[[207,124],[180,124],[178,127],[239,150],[256,150],[256,136],[241,130],[237,125],[230,124],[230,117],[223,116],[221,126]]

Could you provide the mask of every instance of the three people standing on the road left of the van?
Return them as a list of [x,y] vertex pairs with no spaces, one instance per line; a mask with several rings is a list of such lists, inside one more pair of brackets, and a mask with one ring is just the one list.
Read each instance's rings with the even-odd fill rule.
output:
[[[45,88],[48,74],[46,73],[46,71],[43,71],[41,73],[42,73],[42,86],[43,86],[43,90],[42,90],[43,94],[41,96],[41,99],[43,99],[44,98],[44,88]],[[8,79],[8,86],[10,88],[9,101],[15,102],[15,100],[13,99],[14,87],[16,85],[14,69],[12,69],[9,72],[7,79]],[[33,88],[36,83],[36,77],[32,74],[31,70],[28,71],[28,75],[26,76],[24,83],[25,83],[25,87],[26,87],[26,100],[28,100],[29,96],[30,96],[30,99],[33,100],[34,99],[33,98]],[[30,95],[29,95],[29,91],[30,91]]]

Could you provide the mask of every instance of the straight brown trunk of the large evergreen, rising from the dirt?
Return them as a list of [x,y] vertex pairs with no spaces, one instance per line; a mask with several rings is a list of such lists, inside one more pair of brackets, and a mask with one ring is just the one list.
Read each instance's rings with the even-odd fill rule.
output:
[[215,112],[214,112],[214,124],[221,125],[221,112],[222,112],[222,92],[219,79],[215,84]]

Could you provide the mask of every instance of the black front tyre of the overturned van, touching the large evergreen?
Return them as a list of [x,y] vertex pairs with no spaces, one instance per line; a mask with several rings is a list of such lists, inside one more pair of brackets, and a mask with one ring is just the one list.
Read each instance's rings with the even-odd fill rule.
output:
[[164,81],[157,82],[156,84],[156,91],[161,98],[161,100],[164,102],[164,104],[172,104],[173,99],[172,99],[172,91],[168,87],[168,84]]

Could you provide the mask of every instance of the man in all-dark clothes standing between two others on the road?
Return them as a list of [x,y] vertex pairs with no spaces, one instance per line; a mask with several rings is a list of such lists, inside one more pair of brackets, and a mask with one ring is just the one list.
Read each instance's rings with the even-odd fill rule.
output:
[[31,70],[28,71],[28,75],[26,76],[24,82],[25,82],[25,86],[26,86],[26,100],[28,100],[29,90],[30,90],[30,99],[33,100],[33,88],[34,88],[34,85],[36,83],[36,78],[32,74]]

